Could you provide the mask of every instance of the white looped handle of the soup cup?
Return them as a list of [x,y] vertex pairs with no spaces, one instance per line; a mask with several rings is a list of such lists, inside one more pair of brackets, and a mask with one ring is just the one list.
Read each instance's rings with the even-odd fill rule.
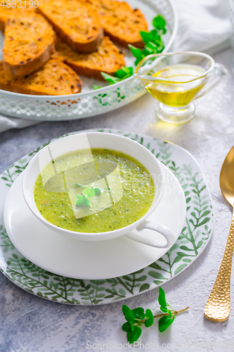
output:
[[[145,237],[141,235],[142,230],[154,230],[160,232],[167,240],[167,243],[160,241],[159,239],[151,239],[149,237]],[[143,224],[138,226],[138,228],[134,231],[125,234],[129,239],[133,239],[136,242],[140,242],[142,244],[147,244],[148,246],[157,247],[157,248],[169,248],[175,243],[175,236],[171,230],[169,230],[166,226],[157,224],[152,221],[145,221]]]

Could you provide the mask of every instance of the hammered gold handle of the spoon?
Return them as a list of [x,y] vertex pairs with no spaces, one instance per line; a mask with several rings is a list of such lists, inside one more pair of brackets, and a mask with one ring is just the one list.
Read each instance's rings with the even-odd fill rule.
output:
[[230,314],[230,270],[234,247],[234,210],[223,260],[204,308],[204,316],[214,322],[224,322]]

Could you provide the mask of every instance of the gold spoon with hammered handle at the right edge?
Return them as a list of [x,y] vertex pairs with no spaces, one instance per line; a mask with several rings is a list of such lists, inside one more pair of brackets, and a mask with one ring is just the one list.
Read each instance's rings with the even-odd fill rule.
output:
[[224,322],[230,314],[230,270],[234,247],[234,146],[223,161],[219,184],[223,197],[233,207],[233,218],[219,273],[204,308],[204,316],[214,322]]

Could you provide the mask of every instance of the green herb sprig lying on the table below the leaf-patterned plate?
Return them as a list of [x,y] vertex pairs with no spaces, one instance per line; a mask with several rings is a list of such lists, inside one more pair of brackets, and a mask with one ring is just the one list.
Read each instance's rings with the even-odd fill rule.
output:
[[164,332],[172,322],[174,322],[177,314],[183,313],[189,308],[187,307],[182,310],[172,308],[169,303],[167,303],[162,287],[159,288],[158,303],[160,304],[162,314],[157,315],[153,315],[150,309],[144,310],[142,307],[130,309],[126,304],[122,306],[122,312],[126,319],[126,322],[122,325],[122,329],[126,332],[126,338],[130,344],[133,344],[134,341],[137,341],[141,336],[141,325],[151,327],[155,318],[160,318],[160,320],[158,320],[158,329],[160,332]]

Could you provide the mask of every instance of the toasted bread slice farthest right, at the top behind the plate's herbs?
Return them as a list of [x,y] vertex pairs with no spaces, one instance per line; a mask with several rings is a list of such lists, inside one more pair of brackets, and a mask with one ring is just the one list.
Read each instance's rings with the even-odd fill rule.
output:
[[113,42],[128,46],[132,44],[143,48],[141,30],[147,31],[148,24],[138,8],[131,8],[125,1],[116,0],[79,0],[91,4],[98,10],[105,35]]

